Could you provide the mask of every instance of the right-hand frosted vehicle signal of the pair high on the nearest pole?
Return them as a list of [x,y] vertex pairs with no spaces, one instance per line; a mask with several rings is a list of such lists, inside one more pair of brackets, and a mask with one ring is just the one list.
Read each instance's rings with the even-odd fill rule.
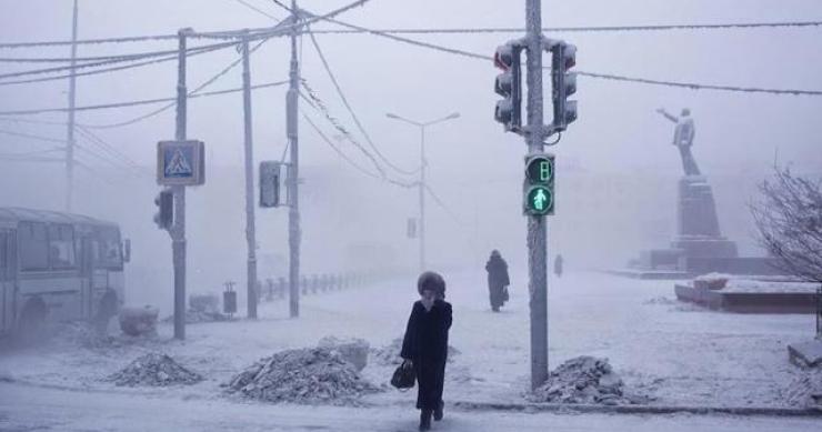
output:
[[568,97],[577,92],[577,47],[557,42],[551,47],[551,84],[553,87],[553,130],[562,132],[577,120],[577,101]]

